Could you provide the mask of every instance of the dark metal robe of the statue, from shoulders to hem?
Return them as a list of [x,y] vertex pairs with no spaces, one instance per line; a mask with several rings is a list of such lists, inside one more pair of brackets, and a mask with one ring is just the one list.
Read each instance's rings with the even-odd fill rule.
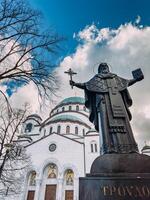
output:
[[104,153],[138,151],[129,122],[132,99],[128,84],[129,80],[112,73],[97,74],[85,83],[85,105],[97,131],[101,125]]

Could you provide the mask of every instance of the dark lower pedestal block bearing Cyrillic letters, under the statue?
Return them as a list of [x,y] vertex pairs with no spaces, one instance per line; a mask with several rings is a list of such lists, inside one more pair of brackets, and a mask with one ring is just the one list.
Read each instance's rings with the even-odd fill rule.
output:
[[147,178],[80,178],[79,200],[149,200]]

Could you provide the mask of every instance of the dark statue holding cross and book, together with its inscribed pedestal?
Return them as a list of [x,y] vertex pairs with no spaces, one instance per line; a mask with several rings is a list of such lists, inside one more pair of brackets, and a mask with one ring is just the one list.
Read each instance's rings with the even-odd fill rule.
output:
[[134,139],[128,87],[144,78],[141,69],[127,80],[101,63],[96,74],[85,83],[75,83],[71,69],[70,85],[84,89],[89,119],[99,131],[103,155],[92,163],[90,173],[79,178],[79,200],[149,200],[150,157],[140,154]]

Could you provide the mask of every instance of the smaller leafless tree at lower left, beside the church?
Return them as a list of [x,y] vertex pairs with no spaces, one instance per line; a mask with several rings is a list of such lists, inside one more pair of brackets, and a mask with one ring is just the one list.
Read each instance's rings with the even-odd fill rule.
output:
[[16,142],[28,109],[8,112],[5,99],[0,99],[0,196],[19,193],[23,174],[29,167],[25,149]]

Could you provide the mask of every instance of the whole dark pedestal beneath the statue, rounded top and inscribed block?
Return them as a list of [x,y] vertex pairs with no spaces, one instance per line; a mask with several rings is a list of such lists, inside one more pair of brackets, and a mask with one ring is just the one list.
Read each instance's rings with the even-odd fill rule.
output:
[[132,154],[99,156],[90,174],[79,180],[79,200],[149,200],[150,157]]

